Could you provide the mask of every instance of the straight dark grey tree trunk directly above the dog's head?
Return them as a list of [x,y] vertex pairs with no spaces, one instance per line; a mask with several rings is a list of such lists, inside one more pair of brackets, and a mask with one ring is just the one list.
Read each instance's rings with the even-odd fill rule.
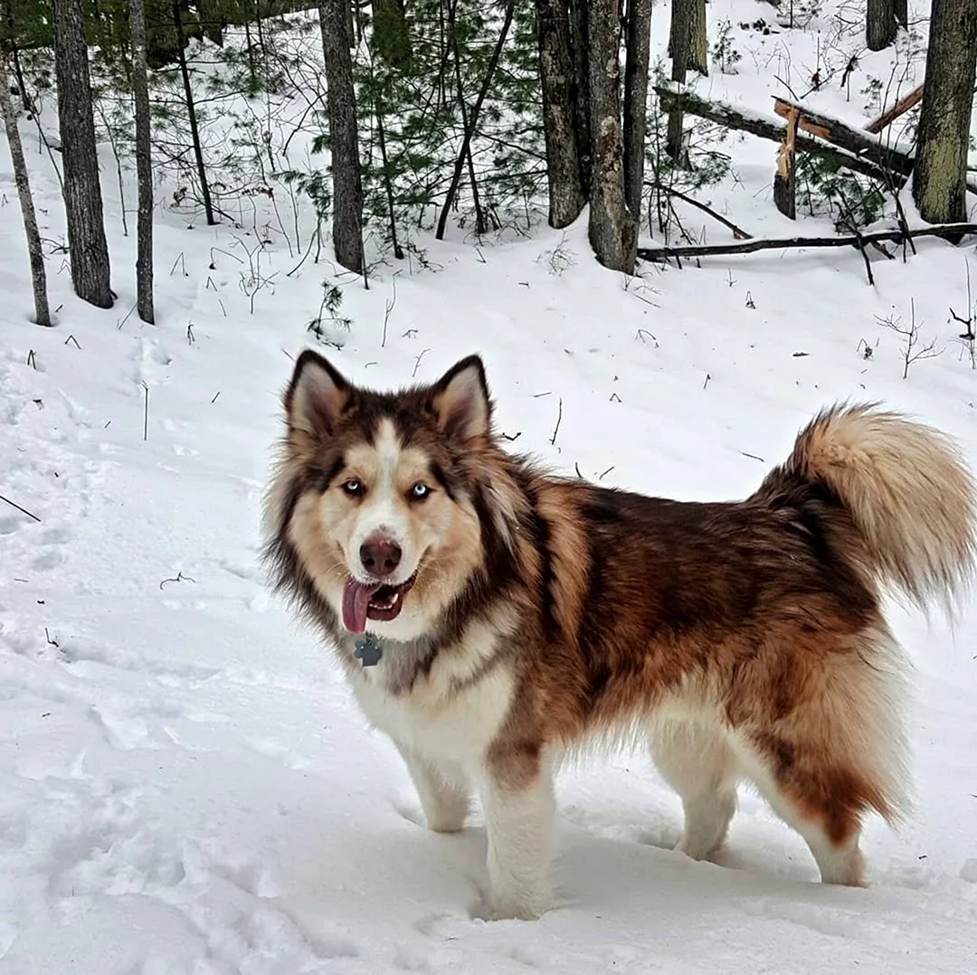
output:
[[363,273],[363,190],[353,59],[347,43],[347,0],[319,3],[332,166],[332,245],[347,270]]

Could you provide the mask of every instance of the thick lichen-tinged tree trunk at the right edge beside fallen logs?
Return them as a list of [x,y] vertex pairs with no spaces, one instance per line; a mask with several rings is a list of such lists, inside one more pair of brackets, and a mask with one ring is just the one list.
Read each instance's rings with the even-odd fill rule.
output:
[[977,62],[977,0],[933,0],[913,198],[930,224],[966,220],[966,171]]

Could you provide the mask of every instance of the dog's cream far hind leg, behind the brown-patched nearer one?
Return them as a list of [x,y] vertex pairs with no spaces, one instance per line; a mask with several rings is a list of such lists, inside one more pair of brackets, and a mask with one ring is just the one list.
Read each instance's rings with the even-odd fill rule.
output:
[[735,756],[719,729],[698,722],[657,723],[649,741],[658,771],[685,809],[676,849],[703,860],[722,845],[736,813]]

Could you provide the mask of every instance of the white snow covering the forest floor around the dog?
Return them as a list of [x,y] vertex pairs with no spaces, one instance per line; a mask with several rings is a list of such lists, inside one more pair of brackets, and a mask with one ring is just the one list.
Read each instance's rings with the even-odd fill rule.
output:
[[[764,5],[715,7],[713,19],[770,20]],[[798,34],[797,50],[812,36]],[[766,110],[762,65],[740,67],[709,86]],[[727,150],[741,182],[709,191],[713,205],[753,233],[825,232],[773,209],[776,147]],[[3,975],[975,970],[972,601],[953,631],[893,609],[916,666],[917,805],[899,831],[871,822],[870,889],[814,882],[802,840],[748,791],[716,864],[671,852],[679,802],[637,753],[560,781],[556,909],[533,923],[473,920],[479,814],[458,836],[419,826],[393,746],[365,728],[257,562],[278,395],[334,269],[310,261],[287,276],[296,261],[269,247],[263,268],[276,276],[252,314],[232,255],[244,259],[236,237],[253,247],[254,235],[189,230],[163,205],[158,324],[145,325],[127,315],[135,242],[106,156],[118,301],[102,312],[77,300],[53,254],[58,327],[40,329],[8,160],[4,147],[0,494],[39,521],[0,502]],[[54,173],[36,150],[28,165],[42,234],[57,239]],[[710,240],[720,232],[709,225]],[[972,244],[920,240],[908,264],[872,254],[874,288],[850,250],[625,280],[592,261],[585,217],[478,251],[423,245],[442,270],[382,265],[368,291],[340,278],[353,325],[325,353],[385,387],[481,352],[500,429],[559,470],[743,496],[836,398],[909,410],[977,465],[977,371],[947,311],[963,314],[965,265],[977,285]],[[903,340],[878,318],[908,321],[911,302],[922,341],[944,351],[904,380]]]

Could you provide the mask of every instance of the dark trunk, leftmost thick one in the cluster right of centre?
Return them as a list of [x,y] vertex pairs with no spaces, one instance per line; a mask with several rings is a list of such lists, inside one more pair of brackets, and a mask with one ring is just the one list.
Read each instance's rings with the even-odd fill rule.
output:
[[[651,0],[643,2],[650,5]],[[568,15],[566,0],[536,0],[549,223],[557,230],[572,224],[586,202],[574,126],[575,86]]]

